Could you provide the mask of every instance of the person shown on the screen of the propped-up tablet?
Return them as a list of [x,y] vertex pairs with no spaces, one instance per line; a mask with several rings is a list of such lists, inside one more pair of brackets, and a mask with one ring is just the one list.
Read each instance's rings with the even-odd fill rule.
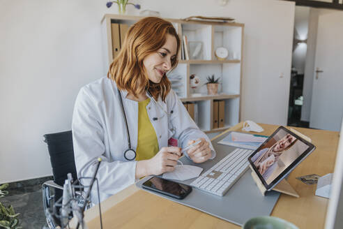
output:
[[296,138],[287,133],[284,138],[278,140],[272,147],[261,149],[252,157],[254,165],[265,180],[273,173],[280,155],[294,145],[294,142],[296,142]]

